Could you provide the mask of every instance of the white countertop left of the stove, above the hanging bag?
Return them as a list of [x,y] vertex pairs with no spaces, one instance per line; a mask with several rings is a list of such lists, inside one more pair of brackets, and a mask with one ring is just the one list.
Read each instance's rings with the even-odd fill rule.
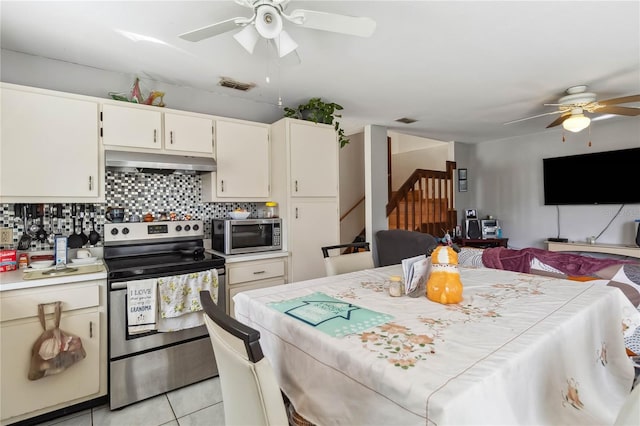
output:
[[55,277],[44,277],[36,279],[25,279],[25,273],[34,274],[38,271],[46,271],[47,269],[37,270],[28,268],[17,269],[15,271],[0,273],[0,291],[20,290],[24,288],[44,287],[57,284],[69,284],[81,281],[106,280],[107,268],[105,268],[102,259],[98,259],[96,263],[91,265],[69,265],[77,268],[78,272],[73,275],[59,275]]

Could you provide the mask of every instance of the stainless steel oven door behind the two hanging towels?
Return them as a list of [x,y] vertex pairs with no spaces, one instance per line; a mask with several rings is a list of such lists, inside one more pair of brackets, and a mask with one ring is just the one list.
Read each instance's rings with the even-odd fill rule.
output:
[[[224,306],[225,275],[218,269],[218,304]],[[145,279],[148,277],[140,277]],[[128,281],[135,281],[128,279]],[[208,337],[204,325],[184,330],[158,333],[129,334],[127,324],[127,282],[112,282],[109,291],[109,358],[134,355],[139,352],[161,349],[180,342]]]

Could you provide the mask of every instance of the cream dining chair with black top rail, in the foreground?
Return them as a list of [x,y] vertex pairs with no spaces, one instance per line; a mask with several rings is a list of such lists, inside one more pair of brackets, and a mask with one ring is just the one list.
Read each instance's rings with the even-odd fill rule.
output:
[[218,366],[225,425],[282,425],[289,420],[260,332],[227,315],[208,291],[200,292],[204,322]]

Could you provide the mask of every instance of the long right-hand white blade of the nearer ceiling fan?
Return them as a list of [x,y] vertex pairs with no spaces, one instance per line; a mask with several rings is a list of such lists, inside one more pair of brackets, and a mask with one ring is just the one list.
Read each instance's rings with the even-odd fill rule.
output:
[[376,29],[376,21],[371,18],[338,15],[316,10],[296,9],[291,12],[291,15],[285,17],[305,28],[358,37],[370,37]]

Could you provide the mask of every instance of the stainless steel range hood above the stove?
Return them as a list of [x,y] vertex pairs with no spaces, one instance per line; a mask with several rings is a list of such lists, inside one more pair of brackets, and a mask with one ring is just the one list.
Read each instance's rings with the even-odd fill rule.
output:
[[106,150],[107,169],[149,173],[200,174],[216,171],[216,160],[207,157]]

